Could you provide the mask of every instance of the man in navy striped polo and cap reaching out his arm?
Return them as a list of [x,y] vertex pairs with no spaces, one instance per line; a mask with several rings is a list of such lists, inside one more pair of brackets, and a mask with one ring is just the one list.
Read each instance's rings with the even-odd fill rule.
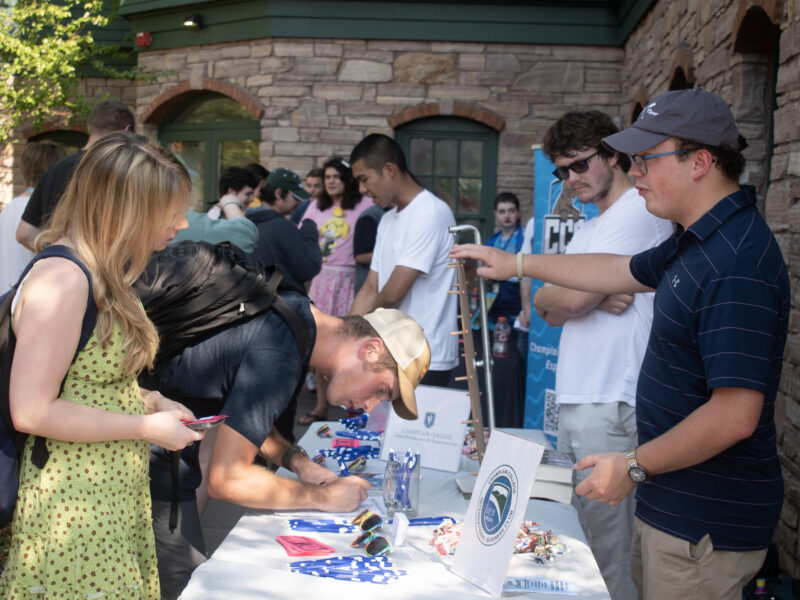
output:
[[[789,317],[778,244],[739,187],[739,135],[725,102],[667,92],[604,138],[631,155],[647,210],[679,230],[633,257],[454,249],[492,279],[518,273],[591,292],[656,290],[639,372],[639,446],[579,461],[576,488],[617,504],[636,488],[632,576],[645,600],[739,599],[761,567],[783,503],[774,403]],[[575,373],[580,377],[580,373]]]

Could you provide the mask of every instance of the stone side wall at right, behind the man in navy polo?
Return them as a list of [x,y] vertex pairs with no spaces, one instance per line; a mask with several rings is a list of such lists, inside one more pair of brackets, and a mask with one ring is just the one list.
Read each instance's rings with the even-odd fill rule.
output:
[[[779,50],[734,51],[748,10],[779,25]],[[800,298],[800,0],[659,2],[628,39],[624,63],[623,89],[629,90],[623,99],[626,123],[634,104],[667,91],[675,69],[681,67],[695,86],[725,98],[750,143],[744,180],[759,190],[760,207],[792,277],[793,311],[775,407],[786,480],[776,542],[781,568],[800,577],[800,318],[796,311]],[[773,102],[777,103],[774,112]],[[770,161],[765,124],[771,112],[774,148]]]

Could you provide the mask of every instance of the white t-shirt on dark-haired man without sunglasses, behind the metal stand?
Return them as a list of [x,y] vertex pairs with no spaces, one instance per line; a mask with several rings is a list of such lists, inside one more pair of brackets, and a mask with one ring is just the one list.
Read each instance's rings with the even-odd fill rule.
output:
[[431,370],[447,371],[458,364],[456,270],[448,269],[455,225],[453,211],[428,190],[423,190],[400,212],[393,208],[378,224],[370,269],[383,289],[396,266],[421,271],[397,308],[422,326],[431,347]]

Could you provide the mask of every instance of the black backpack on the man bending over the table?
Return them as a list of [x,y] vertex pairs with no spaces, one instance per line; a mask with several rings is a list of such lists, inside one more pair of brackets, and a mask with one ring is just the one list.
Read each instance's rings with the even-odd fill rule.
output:
[[184,241],[156,252],[134,290],[158,329],[157,360],[269,309],[286,321],[305,356],[308,330],[277,294],[282,278],[274,265],[265,267],[227,242]]

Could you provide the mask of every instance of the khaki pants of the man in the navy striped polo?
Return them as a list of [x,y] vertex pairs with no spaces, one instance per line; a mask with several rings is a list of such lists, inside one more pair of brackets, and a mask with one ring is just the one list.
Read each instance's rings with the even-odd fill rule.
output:
[[741,600],[742,586],[761,568],[767,550],[714,550],[634,522],[631,575],[642,600]]

